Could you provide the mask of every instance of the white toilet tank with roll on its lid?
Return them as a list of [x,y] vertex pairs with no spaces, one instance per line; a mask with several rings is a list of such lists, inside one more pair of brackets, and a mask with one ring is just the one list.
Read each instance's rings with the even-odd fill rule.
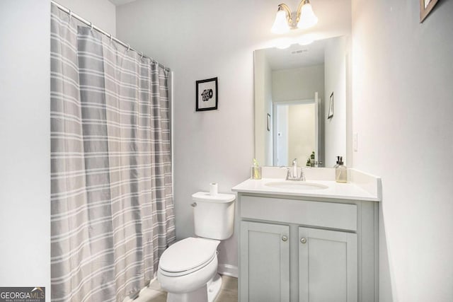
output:
[[192,199],[196,236],[224,240],[233,235],[234,194],[197,192]]

